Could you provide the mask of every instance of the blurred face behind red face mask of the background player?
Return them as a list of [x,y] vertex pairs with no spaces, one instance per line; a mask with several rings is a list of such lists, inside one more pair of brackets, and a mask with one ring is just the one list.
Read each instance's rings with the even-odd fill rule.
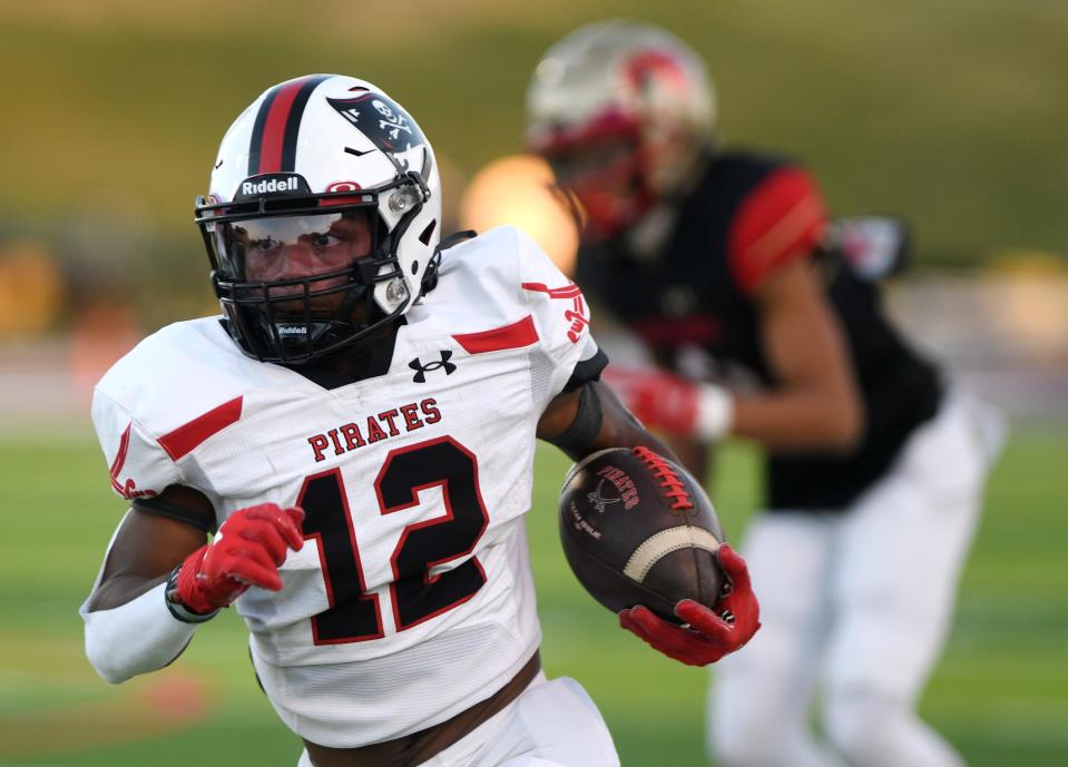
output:
[[591,234],[610,237],[633,223],[641,181],[640,158],[631,139],[602,139],[553,153],[548,159],[557,183],[581,203]]

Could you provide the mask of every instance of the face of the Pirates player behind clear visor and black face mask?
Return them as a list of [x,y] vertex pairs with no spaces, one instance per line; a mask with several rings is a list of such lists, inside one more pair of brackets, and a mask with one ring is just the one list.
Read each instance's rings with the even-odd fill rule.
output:
[[[308,283],[311,292],[344,285],[349,275],[337,273],[350,268],[356,258],[370,255],[372,247],[366,210],[236,222],[233,240],[235,249],[243,255],[246,281],[274,283],[324,275],[324,278]],[[300,282],[268,288],[272,297],[303,293],[304,286]],[[329,313],[343,299],[342,292],[313,296],[312,308]],[[278,304],[277,308],[303,311],[303,303],[293,303],[292,307]]]

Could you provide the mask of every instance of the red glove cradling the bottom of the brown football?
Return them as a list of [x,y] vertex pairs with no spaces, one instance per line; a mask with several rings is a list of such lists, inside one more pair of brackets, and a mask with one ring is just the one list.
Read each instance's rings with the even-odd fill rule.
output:
[[675,606],[675,614],[689,628],[664,620],[640,604],[621,610],[619,625],[668,658],[689,666],[714,663],[742,648],[761,628],[761,608],[749,584],[745,560],[726,543],[719,547],[716,557],[727,580],[714,609],[689,599]]

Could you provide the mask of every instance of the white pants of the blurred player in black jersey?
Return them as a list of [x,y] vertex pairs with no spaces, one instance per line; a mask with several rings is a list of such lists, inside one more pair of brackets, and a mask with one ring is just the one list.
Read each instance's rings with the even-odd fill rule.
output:
[[[1003,434],[1000,413],[950,394],[846,513],[754,520],[744,554],[763,628],[714,669],[718,767],[963,765],[914,707]],[[823,740],[810,727],[816,699]]]

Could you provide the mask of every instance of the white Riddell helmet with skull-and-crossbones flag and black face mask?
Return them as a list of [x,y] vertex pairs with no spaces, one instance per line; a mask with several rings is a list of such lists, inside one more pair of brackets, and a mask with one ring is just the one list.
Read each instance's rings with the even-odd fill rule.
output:
[[384,91],[311,75],[268,88],[226,131],[196,223],[234,341],[301,364],[433,287],[441,181],[430,142]]

